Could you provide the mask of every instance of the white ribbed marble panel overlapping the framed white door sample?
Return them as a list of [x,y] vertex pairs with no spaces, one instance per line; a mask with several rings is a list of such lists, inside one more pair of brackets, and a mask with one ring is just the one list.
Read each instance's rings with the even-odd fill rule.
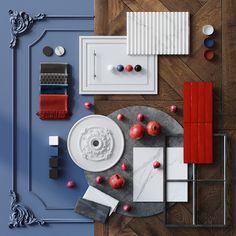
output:
[[189,54],[189,12],[127,12],[127,53]]

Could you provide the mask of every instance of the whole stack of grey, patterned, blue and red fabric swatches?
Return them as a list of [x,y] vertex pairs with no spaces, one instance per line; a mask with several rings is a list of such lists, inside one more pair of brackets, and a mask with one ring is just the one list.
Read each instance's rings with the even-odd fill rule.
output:
[[41,63],[39,112],[42,120],[70,117],[68,103],[69,64]]

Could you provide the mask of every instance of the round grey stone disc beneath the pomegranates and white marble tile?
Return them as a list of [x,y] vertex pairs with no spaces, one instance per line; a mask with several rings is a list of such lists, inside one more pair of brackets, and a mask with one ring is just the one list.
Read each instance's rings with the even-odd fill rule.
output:
[[[117,115],[119,113],[124,114],[125,119],[123,121],[117,120]],[[136,116],[138,113],[143,113],[145,120],[143,122],[138,122]],[[170,147],[182,147],[183,146],[183,128],[182,126],[171,116],[157,110],[152,107],[145,106],[131,106],[120,110],[117,110],[110,115],[121,128],[125,137],[125,149],[124,153],[119,160],[119,162],[112,168],[102,171],[102,172],[88,172],[85,171],[85,176],[89,185],[92,185],[101,191],[109,194],[110,196],[118,199],[120,201],[117,213],[132,217],[144,217],[159,214],[164,211],[164,203],[162,202],[133,202],[133,147],[162,147],[164,145],[164,138],[167,136],[167,146]],[[129,129],[135,123],[142,123],[146,125],[150,120],[157,120],[161,124],[161,134],[156,137],[151,137],[147,134],[144,135],[140,140],[132,140],[129,137]],[[178,137],[173,137],[179,135]],[[168,137],[169,136],[169,137]],[[125,162],[129,165],[127,171],[122,171],[120,166]],[[119,173],[125,177],[125,185],[121,189],[112,189],[108,184],[108,179],[111,175]],[[95,178],[97,175],[101,175],[104,178],[102,184],[97,184]],[[158,186],[153,186],[158,190]],[[124,212],[122,210],[123,204],[128,203],[131,205],[132,209],[130,212]],[[173,205],[173,203],[168,204],[168,206]]]

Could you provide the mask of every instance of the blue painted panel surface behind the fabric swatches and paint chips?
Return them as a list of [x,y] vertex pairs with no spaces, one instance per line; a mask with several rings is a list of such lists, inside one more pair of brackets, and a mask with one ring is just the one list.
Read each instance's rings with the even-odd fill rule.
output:
[[[9,48],[10,9],[25,11],[31,16],[38,13],[49,16],[45,20],[35,22],[28,32],[19,37],[14,48],[15,63],[12,61],[13,49]],[[0,12],[0,235],[93,235],[91,220],[73,211],[76,200],[85,192],[87,183],[83,171],[72,162],[66,150],[66,138],[71,126],[81,117],[93,112],[83,108],[83,102],[85,100],[93,102],[93,97],[78,94],[79,35],[93,34],[93,18],[60,17],[93,16],[93,1],[10,0],[1,3]],[[59,17],[51,17],[55,15]],[[44,46],[55,48],[58,45],[66,49],[63,57],[56,55],[46,57],[42,54]],[[42,121],[36,116],[35,113],[39,109],[40,62],[67,62],[71,65],[72,117],[69,120]],[[13,64],[15,64],[14,71]],[[15,110],[13,83],[15,83]],[[13,114],[15,119],[12,117]],[[15,132],[12,130],[14,120]],[[14,151],[13,134],[15,134]],[[48,178],[49,135],[58,135],[61,138],[62,175],[58,180]],[[76,182],[76,188],[66,187],[70,179]],[[10,229],[8,227],[12,213],[10,189],[17,193],[17,200],[12,205],[13,213],[17,214],[17,209],[25,209],[26,212],[30,209],[35,217],[44,220],[46,224]],[[14,216],[17,218],[17,215]],[[28,220],[31,222],[32,215]]]

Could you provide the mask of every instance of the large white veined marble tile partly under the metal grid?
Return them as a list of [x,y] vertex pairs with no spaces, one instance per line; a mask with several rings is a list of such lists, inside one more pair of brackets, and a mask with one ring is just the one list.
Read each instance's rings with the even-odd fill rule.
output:
[[[153,168],[158,160],[161,167]],[[187,179],[188,166],[183,163],[183,148],[167,148],[167,179]],[[133,149],[133,201],[163,202],[163,148]],[[188,183],[168,183],[168,202],[187,202]]]

